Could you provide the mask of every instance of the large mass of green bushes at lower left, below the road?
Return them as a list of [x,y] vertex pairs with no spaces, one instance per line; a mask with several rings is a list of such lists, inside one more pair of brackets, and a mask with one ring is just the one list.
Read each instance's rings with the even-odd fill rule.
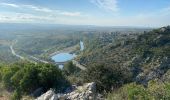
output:
[[19,98],[20,94],[30,94],[40,87],[44,91],[50,88],[63,91],[69,85],[61,70],[51,64],[13,64],[2,67],[0,72],[5,88],[14,90],[14,98]]

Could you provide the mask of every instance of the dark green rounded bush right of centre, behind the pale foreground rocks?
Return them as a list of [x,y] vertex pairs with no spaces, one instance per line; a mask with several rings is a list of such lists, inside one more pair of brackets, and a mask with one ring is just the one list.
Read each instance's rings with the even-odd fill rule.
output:
[[89,67],[84,73],[84,80],[94,81],[97,84],[98,91],[109,91],[131,80],[131,73],[122,70],[119,67],[106,67],[103,65],[94,65]]

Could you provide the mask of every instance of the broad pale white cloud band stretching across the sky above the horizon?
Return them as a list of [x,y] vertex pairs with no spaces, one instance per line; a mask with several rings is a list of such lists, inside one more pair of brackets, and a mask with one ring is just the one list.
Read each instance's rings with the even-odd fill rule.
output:
[[[14,4],[16,5],[16,4]],[[6,5],[9,6],[9,5]],[[13,6],[10,6],[13,7]],[[17,7],[17,8],[16,8]],[[106,25],[106,26],[165,26],[170,24],[170,7],[148,13],[139,13],[131,16],[97,17],[87,16],[80,12],[68,12],[33,5],[16,5],[16,9],[27,9],[31,12],[12,13],[0,12],[0,22],[43,22],[57,24],[78,25]],[[37,13],[35,13],[37,12]]]

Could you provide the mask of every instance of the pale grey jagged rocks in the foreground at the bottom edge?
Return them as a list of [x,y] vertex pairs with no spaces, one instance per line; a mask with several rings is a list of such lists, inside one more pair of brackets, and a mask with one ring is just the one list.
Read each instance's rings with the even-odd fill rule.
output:
[[96,84],[94,82],[87,83],[83,86],[75,86],[68,88],[66,93],[55,93],[49,90],[36,100],[102,100],[102,96],[96,93]]

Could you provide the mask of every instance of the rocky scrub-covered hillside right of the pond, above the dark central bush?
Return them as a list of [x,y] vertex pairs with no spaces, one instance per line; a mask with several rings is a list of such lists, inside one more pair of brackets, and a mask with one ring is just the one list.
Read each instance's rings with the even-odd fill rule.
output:
[[133,73],[133,81],[145,85],[149,80],[161,78],[170,68],[170,26],[135,35],[107,44],[98,42],[100,37],[93,39],[79,61],[87,67],[98,63],[128,69]]

